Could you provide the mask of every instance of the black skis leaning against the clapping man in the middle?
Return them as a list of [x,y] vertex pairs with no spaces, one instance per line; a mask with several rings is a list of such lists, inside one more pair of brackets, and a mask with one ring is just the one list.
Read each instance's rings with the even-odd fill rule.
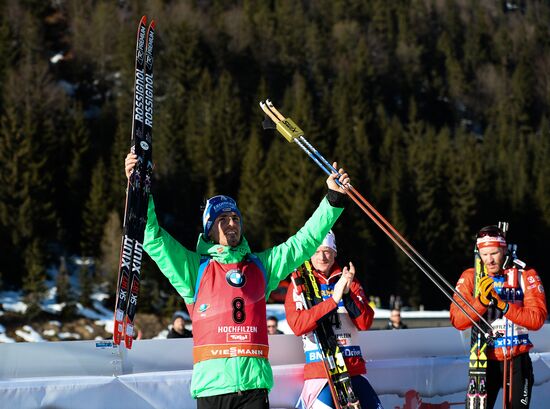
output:
[[[294,270],[291,279],[296,292],[302,297],[304,308],[309,310],[323,301],[309,261]],[[326,370],[335,408],[360,409],[359,399],[353,392],[351,377],[344,362],[344,355],[338,345],[329,317],[325,317],[317,323],[317,328],[313,330],[313,337]]]

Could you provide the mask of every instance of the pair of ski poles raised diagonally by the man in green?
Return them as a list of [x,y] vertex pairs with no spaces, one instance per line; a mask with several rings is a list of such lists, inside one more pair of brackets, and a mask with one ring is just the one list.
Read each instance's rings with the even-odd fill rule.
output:
[[[270,100],[260,102],[262,111],[268,116],[272,124],[264,121],[264,128],[277,129],[288,142],[296,143],[326,174],[339,174],[335,169],[305,138],[304,132],[290,118],[284,117],[272,104]],[[457,308],[471,321],[478,330],[480,330],[488,339],[493,339],[491,324],[477,312],[477,310],[464,298],[455,288],[424,258],[420,253],[372,206],[351,184],[341,186],[346,194],[363,210],[363,212],[399,247],[399,249],[436,285],[436,287],[453,303]],[[405,248],[405,246],[407,248]],[[410,251],[409,251],[410,250]],[[411,254],[412,252],[412,254]],[[415,257],[413,257],[413,254]],[[422,265],[423,263],[423,265]],[[451,290],[475,316],[486,325],[488,331],[483,328],[470,316],[460,303],[450,296],[443,286],[426,270],[427,267],[432,273],[441,280],[447,288]]]

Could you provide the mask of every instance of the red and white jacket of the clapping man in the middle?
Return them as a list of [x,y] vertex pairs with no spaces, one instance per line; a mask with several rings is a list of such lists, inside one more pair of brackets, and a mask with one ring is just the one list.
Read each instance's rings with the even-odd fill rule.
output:
[[321,287],[323,302],[315,305],[310,310],[304,309],[301,296],[296,293],[294,284],[288,287],[285,299],[285,312],[288,325],[298,336],[302,336],[306,365],[304,367],[304,379],[325,378],[326,373],[323,363],[320,361],[317,345],[313,341],[311,331],[317,327],[319,321],[325,315],[337,309],[340,320],[340,328],[334,327],[334,333],[338,344],[344,354],[348,372],[351,376],[361,375],[367,372],[361,347],[358,344],[358,330],[364,331],[370,328],[374,318],[374,311],[368,304],[361,284],[353,280],[350,292],[337,305],[332,298],[334,285],[342,275],[342,270],[335,263],[332,266],[329,277],[314,270],[315,278]]

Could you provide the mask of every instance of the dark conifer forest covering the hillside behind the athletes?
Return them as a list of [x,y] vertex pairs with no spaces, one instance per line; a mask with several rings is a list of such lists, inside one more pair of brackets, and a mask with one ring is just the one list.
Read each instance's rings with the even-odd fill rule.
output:
[[[268,98],[453,286],[476,232],[507,221],[550,287],[549,2],[1,0],[3,289],[37,303],[78,255],[94,265],[81,280],[114,300],[144,14],[157,23],[152,191],[182,244],[195,248],[212,195],[237,200],[253,251],[325,195],[326,175],[263,130]],[[367,295],[449,308],[350,200],[334,231]],[[147,258],[138,314],[180,301]]]

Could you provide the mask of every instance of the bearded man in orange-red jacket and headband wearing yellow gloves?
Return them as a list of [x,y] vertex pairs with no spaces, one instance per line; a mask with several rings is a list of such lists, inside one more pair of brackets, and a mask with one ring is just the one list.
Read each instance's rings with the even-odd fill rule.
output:
[[[498,331],[500,335],[493,344],[486,345],[486,379],[480,382],[485,391],[476,397],[469,391],[468,398],[471,397],[473,404],[468,400],[467,408],[491,409],[502,386],[505,408],[526,409],[531,401],[534,377],[529,350],[533,345],[528,332],[536,331],[544,324],[546,298],[537,272],[514,259],[515,254],[510,254],[507,247],[500,228],[487,226],[481,229],[476,240],[481,274],[478,272],[476,280],[476,269],[470,268],[462,273],[456,286],[456,290],[478,313],[485,315],[495,333]],[[464,305],[456,295],[455,301]],[[478,320],[473,313],[470,317]],[[451,304],[451,322],[459,330],[472,326],[471,320],[454,303]]]

